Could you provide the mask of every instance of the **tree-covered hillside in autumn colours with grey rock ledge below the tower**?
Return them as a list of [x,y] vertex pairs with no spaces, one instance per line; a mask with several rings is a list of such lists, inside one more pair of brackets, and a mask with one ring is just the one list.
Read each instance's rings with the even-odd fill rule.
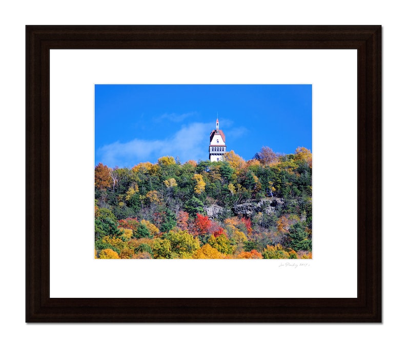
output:
[[311,258],[312,155],[95,167],[97,258]]

